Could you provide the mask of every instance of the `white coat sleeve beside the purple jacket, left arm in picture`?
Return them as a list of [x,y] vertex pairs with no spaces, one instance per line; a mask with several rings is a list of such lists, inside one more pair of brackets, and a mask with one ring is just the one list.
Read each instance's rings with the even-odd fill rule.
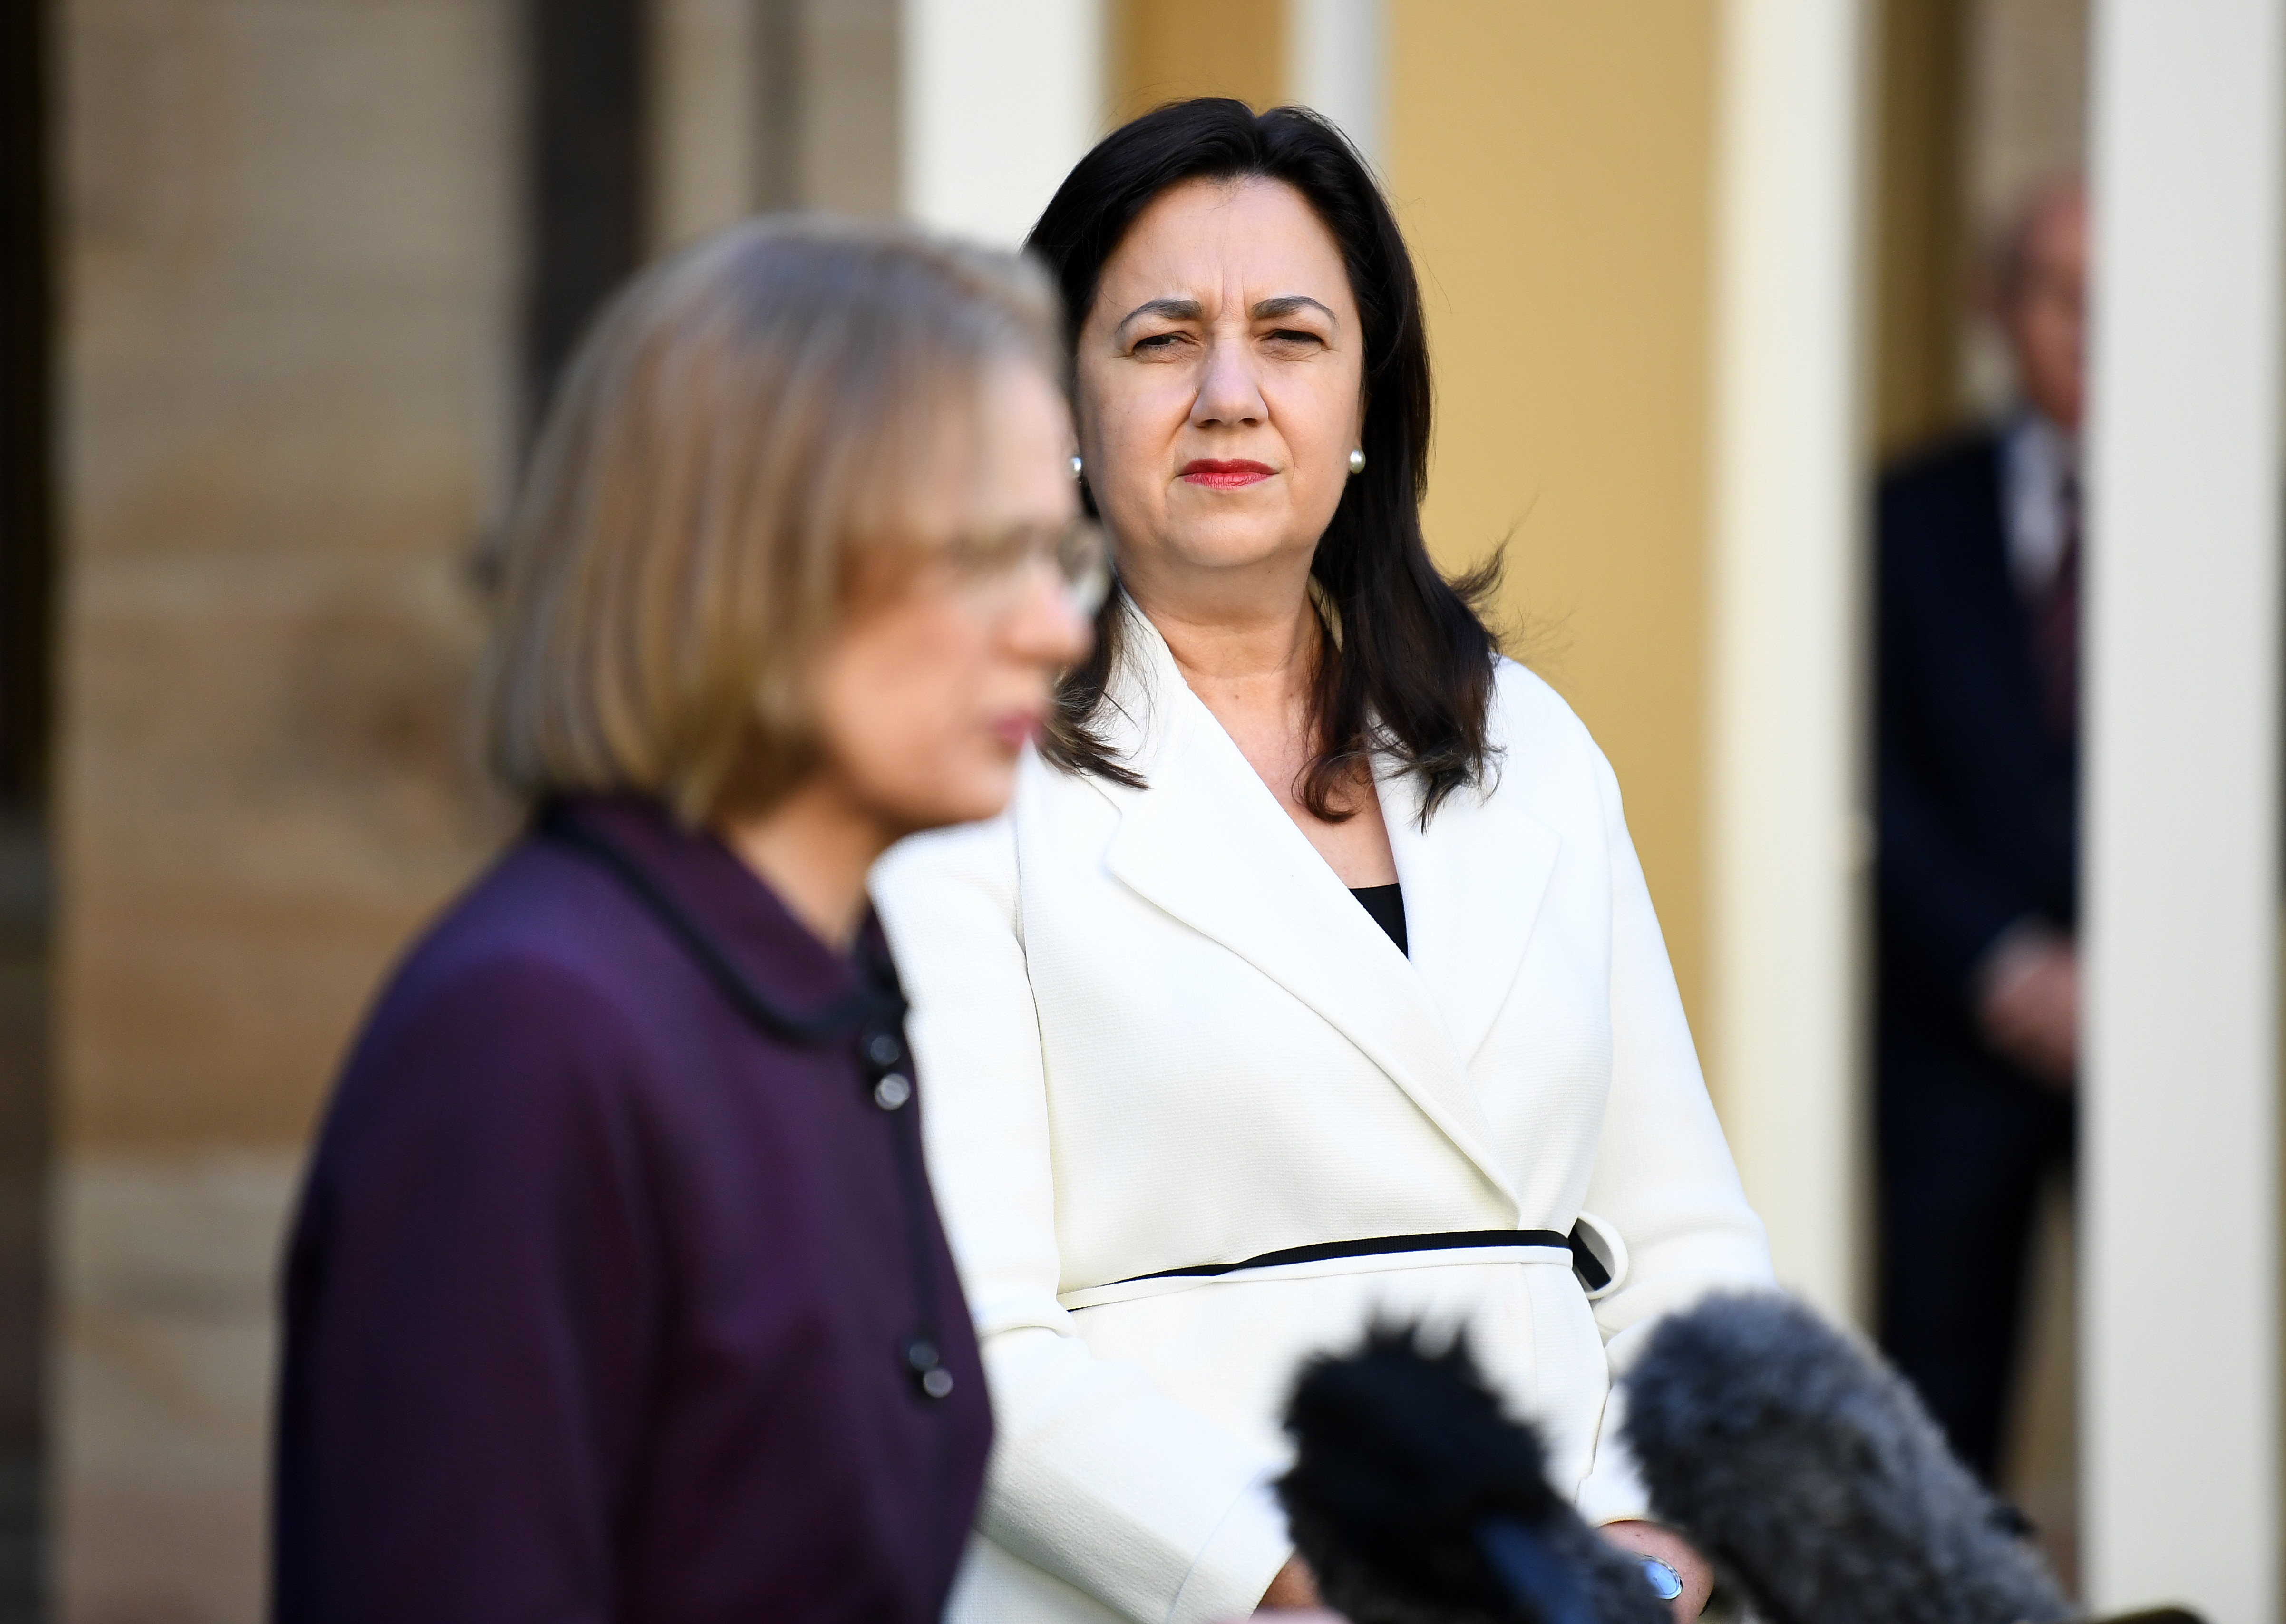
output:
[[930,1183],[997,1446],[978,1528],[1141,1624],[1244,1617],[1292,1555],[1278,1459],[1097,1359],[1056,1301],[1056,1183],[1008,819],[905,842],[873,881],[912,997]]

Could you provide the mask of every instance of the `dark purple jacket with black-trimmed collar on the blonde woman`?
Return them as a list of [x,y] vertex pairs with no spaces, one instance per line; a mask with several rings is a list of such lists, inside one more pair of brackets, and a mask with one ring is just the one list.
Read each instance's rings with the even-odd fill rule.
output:
[[551,819],[334,1093],[274,1617],[930,1622],[992,1423],[880,933],[830,952],[645,801]]

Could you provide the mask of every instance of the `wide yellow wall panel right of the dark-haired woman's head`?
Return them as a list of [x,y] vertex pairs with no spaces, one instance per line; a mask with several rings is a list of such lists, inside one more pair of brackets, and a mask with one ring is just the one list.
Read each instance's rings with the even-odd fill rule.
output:
[[1390,185],[1429,302],[1445,567],[1504,535],[1694,1020],[1705,988],[1712,0],[1392,0]]

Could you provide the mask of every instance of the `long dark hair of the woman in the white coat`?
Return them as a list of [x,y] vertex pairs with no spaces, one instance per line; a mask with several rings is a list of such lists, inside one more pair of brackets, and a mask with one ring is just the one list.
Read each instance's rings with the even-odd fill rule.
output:
[[[1317,666],[1317,755],[1301,803],[1321,819],[1356,807],[1349,791],[1374,748],[1422,778],[1422,821],[1486,771],[1486,709],[1497,643],[1477,615],[1500,556],[1447,581],[1429,560],[1420,503],[1429,483],[1429,336],[1413,256],[1381,188],[1340,130],[1303,108],[1255,114],[1241,101],[1177,101],[1120,126],[1065,176],[1026,247],[1063,290],[1077,348],[1104,261],[1136,217],[1184,181],[1282,181],[1342,249],[1365,327],[1365,471],[1342,492],[1310,572],[1335,608]],[[1095,652],[1065,675],[1047,757],[1125,785],[1141,778],[1095,727],[1120,661],[1120,592],[1095,622]]]

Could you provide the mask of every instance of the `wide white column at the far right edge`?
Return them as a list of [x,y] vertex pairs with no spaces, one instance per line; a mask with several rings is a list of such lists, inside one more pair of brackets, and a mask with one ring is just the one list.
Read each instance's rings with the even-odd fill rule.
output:
[[2099,0],[2083,672],[2087,1599],[2279,1617],[2286,11]]

